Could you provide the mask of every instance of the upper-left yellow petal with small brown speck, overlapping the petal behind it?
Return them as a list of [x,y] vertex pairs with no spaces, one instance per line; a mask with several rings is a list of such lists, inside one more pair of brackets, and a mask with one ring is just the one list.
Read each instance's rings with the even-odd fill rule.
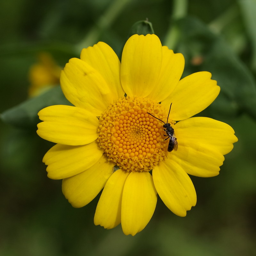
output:
[[80,59],[70,59],[60,75],[65,97],[76,107],[100,116],[113,103],[112,92],[100,73]]

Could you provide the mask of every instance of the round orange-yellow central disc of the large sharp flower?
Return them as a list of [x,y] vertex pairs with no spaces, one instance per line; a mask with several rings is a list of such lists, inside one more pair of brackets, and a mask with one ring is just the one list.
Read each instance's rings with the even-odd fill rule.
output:
[[124,97],[100,117],[98,142],[108,159],[127,171],[150,171],[166,157],[163,106],[150,99]]

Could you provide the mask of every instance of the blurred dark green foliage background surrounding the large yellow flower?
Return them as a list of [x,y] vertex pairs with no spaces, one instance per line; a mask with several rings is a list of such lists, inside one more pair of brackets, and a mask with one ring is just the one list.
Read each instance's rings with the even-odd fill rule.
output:
[[[0,255],[255,255],[255,13],[255,0],[1,0]],[[29,113],[23,105],[4,111],[28,99],[29,70],[40,52],[61,68],[98,41],[121,56],[133,24],[146,18],[162,44],[184,54],[184,76],[212,72],[221,93],[198,116],[230,124],[238,142],[220,175],[191,177],[198,199],[187,217],[158,198],[152,220],[132,237],[120,225],[94,226],[99,196],[72,208],[61,181],[47,178],[42,157],[52,143],[36,135],[33,116],[44,99],[26,103]],[[50,101],[58,104],[58,97]]]

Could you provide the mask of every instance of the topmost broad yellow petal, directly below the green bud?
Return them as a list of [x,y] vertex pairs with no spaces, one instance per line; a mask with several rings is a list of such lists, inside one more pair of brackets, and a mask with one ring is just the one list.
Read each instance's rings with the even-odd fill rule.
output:
[[156,35],[133,35],[121,61],[121,82],[128,96],[146,97],[154,89],[162,65],[162,45]]

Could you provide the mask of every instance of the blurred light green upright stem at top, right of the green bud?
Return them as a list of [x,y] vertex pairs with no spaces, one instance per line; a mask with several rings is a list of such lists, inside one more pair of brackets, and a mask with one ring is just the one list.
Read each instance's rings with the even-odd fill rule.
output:
[[[173,0],[173,11],[171,17],[171,23],[173,21],[181,19],[187,15],[188,0]],[[178,28],[174,25],[170,25],[169,30],[166,33],[164,45],[167,45],[170,49],[174,49],[179,38]]]

